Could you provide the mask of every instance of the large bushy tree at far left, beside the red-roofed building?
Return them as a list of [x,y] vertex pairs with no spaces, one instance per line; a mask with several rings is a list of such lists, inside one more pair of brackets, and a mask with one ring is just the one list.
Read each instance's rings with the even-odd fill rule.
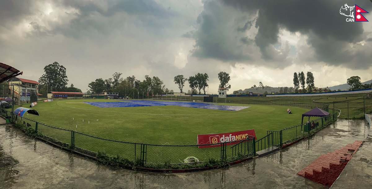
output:
[[54,62],[44,67],[44,74],[39,78],[39,83],[47,86],[49,91],[61,91],[67,86],[66,68]]

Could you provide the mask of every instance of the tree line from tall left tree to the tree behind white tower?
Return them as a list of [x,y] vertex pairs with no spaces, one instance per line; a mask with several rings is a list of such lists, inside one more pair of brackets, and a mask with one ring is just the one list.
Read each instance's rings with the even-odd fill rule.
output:
[[[118,92],[121,96],[129,96],[137,98],[140,93],[144,95],[173,93],[173,90],[169,90],[165,87],[163,80],[158,76],[150,77],[145,75],[145,79],[140,81],[135,76],[128,76],[126,78],[121,77],[122,73],[115,72],[112,77],[108,79],[98,78],[88,84],[88,94],[100,94],[102,92]],[[195,76],[185,78],[183,75],[177,75],[174,77],[174,83],[178,85],[180,92],[183,92],[183,87],[186,81],[189,83],[188,93],[190,94],[206,94],[206,87],[208,87],[209,76],[207,73],[197,73]],[[230,75],[226,72],[218,73],[218,79],[220,81],[219,87],[231,88],[228,83],[230,81]],[[47,95],[48,91],[57,92],[81,92],[81,89],[74,87],[71,84],[67,87],[67,75],[66,68],[60,65],[58,62],[46,65],[44,67],[44,74],[39,78],[39,93]]]

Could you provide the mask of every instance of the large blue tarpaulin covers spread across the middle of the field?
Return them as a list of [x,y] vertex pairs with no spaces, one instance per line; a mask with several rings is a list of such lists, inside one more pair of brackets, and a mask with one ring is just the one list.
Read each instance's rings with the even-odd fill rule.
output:
[[238,111],[249,108],[250,106],[225,106],[214,105],[201,102],[168,102],[168,101],[150,101],[150,100],[123,100],[123,102],[85,102],[87,104],[100,108],[121,108],[121,107],[141,107],[141,106],[182,106],[189,108],[203,108],[214,110]]

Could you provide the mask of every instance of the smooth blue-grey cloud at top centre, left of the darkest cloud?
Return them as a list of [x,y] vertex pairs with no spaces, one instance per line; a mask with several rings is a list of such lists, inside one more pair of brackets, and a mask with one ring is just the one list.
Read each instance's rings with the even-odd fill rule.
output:
[[219,1],[205,2],[204,10],[197,19],[199,28],[193,35],[196,42],[195,49],[192,51],[193,56],[232,63],[256,58],[256,53],[254,53],[256,49],[241,41],[242,37],[246,37],[244,33],[237,31],[235,25],[233,26],[235,28],[231,28],[230,25],[231,22],[244,25],[247,20],[241,17],[247,17],[247,14],[231,13],[231,10],[225,9]]

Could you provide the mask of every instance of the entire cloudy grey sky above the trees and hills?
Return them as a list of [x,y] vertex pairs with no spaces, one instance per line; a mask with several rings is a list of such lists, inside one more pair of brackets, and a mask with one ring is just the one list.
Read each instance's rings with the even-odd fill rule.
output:
[[[358,4],[371,22],[346,22]],[[311,71],[315,86],[372,78],[372,3],[368,0],[1,0],[0,62],[38,80],[55,61],[83,92],[97,78],[230,73],[232,90],[293,86]],[[186,91],[189,89],[188,84]]]

